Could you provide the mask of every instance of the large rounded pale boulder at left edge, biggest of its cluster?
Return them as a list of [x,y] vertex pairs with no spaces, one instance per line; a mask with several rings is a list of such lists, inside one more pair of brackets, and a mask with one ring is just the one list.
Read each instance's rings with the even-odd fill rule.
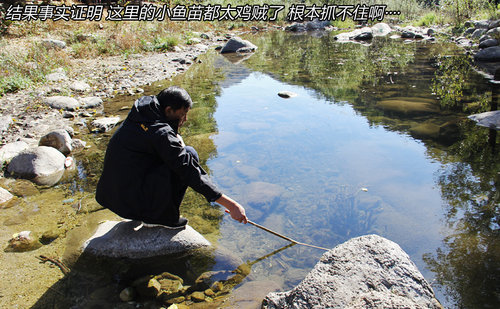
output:
[[65,160],[66,157],[57,149],[38,146],[15,156],[7,166],[7,171],[39,185],[53,186],[64,173]]

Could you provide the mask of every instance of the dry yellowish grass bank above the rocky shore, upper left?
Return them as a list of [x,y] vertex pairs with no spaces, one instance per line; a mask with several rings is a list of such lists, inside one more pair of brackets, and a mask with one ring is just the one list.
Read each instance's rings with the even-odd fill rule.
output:
[[[54,68],[70,67],[72,59],[165,51],[187,44],[193,31],[215,28],[211,23],[172,21],[13,22],[0,37],[0,96],[43,82]],[[47,50],[39,44],[43,38],[65,41],[67,47]]]

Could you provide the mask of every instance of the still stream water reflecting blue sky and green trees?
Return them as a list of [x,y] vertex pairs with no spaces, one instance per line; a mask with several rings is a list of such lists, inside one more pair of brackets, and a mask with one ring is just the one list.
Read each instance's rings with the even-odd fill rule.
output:
[[[226,79],[207,165],[224,192],[251,220],[301,242],[333,248],[384,236],[410,255],[446,307],[495,307],[498,136],[462,111],[494,108],[496,90],[463,52],[425,42],[343,45],[332,36],[250,39],[263,50],[242,63],[215,61]],[[456,83],[461,96],[439,91]],[[281,90],[297,96],[283,99]],[[220,233],[219,244],[248,261],[287,244],[229,216]],[[290,289],[321,254],[287,248],[253,265],[249,280]]]

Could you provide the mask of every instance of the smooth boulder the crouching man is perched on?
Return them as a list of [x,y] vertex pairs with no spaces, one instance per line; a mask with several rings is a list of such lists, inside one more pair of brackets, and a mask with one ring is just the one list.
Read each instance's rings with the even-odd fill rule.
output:
[[83,250],[94,256],[142,259],[210,246],[189,225],[172,230],[162,226],[141,227],[138,221],[106,221],[83,244]]

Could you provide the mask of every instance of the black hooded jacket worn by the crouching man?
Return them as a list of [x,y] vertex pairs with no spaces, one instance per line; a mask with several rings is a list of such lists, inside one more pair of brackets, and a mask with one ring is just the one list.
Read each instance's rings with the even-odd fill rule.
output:
[[123,218],[161,224],[178,218],[185,186],[209,202],[218,199],[221,193],[182,147],[177,130],[156,96],[138,99],[109,141],[97,202]]

